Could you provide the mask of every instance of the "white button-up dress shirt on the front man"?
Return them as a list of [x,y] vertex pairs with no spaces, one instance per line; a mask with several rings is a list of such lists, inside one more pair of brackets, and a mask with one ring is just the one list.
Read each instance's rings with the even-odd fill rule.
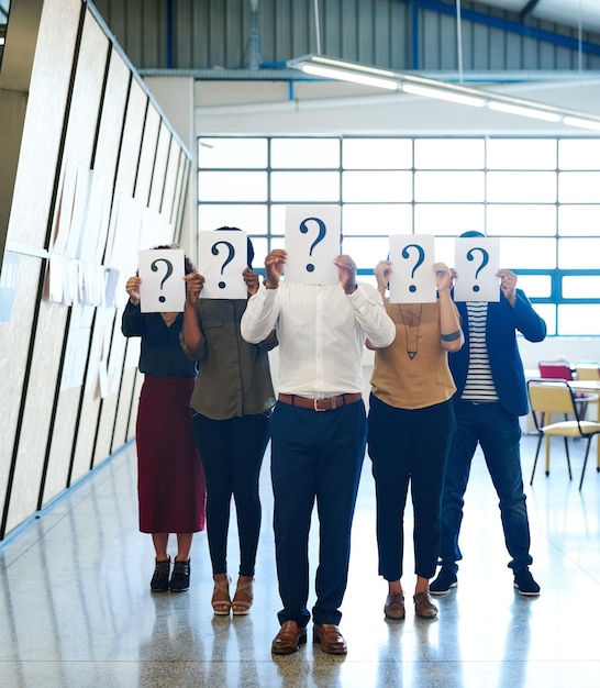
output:
[[312,399],[362,392],[365,340],[386,347],[396,336],[380,293],[366,284],[351,295],[341,285],[262,285],[242,317],[242,336],[256,344],[274,328],[279,391]]

